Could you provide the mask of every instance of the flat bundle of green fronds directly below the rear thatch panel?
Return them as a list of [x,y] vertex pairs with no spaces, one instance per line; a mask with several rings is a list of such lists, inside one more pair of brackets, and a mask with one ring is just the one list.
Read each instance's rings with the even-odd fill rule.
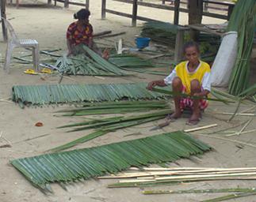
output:
[[58,112],[67,113],[63,116],[84,116],[95,114],[125,114],[136,113],[148,110],[165,109],[169,105],[165,101],[120,101],[105,103],[88,103],[82,108],[72,110],[60,110]]

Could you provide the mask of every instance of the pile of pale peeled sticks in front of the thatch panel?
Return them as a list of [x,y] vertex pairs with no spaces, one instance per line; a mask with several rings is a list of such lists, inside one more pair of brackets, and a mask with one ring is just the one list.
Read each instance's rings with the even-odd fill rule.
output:
[[120,179],[109,188],[147,186],[166,183],[215,180],[255,180],[256,167],[214,168],[214,167],[170,167],[131,168],[129,172],[100,177],[100,179]]

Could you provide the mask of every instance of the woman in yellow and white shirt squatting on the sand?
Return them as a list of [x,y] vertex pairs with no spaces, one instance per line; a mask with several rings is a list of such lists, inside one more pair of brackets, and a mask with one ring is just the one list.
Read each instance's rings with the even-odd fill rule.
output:
[[187,122],[188,125],[197,125],[201,118],[201,110],[208,107],[208,101],[204,99],[211,91],[210,66],[200,60],[200,50],[197,43],[185,43],[184,54],[187,61],[179,63],[175,69],[164,80],[154,80],[147,86],[152,90],[155,86],[166,86],[171,84],[173,92],[185,93],[201,97],[201,99],[181,98],[174,96],[175,112],[167,118],[170,122],[181,117],[185,108],[193,111]]

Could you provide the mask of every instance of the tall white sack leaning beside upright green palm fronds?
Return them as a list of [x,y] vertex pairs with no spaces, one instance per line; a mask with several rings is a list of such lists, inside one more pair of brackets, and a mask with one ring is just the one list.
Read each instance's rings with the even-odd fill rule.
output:
[[224,34],[220,48],[212,65],[212,86],[227,87],[236,58],[237,32],[227,32]]

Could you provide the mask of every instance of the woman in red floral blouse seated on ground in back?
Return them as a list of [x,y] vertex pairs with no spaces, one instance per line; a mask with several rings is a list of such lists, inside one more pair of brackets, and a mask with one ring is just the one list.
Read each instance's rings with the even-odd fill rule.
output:
[[[88,9],[80,9],[78,13],[74,14],[74,18],[78,19],[69,25],[67,28],[67,55],[75,54],[75,47],[84,44],[90,49],[101,54],[94,44],[94,29],[89,23],[90,11]],[[105,51],[102,55],[103,58],[108,58],[109,53]]]

